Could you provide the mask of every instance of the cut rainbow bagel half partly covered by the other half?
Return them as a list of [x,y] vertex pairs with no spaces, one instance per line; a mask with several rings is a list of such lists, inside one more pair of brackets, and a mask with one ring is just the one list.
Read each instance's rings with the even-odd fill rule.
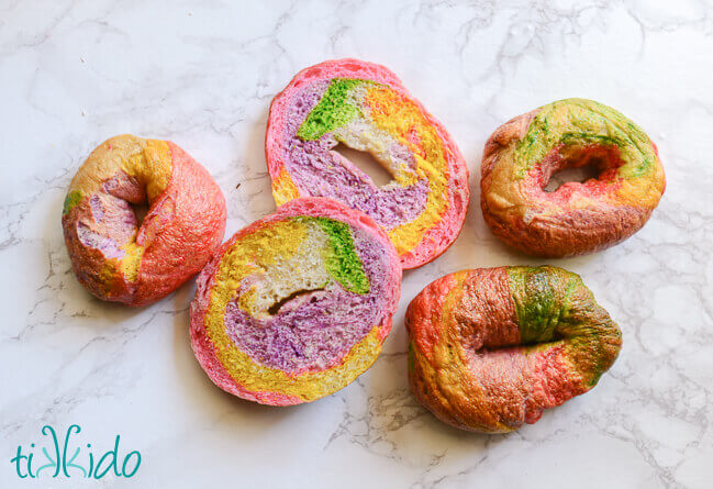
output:
[[[370,153],[393,180],[379,188],[333,148]],[[278,205],[328,197],[387,230],[403,268],[455,241],[468,207],[468,170],[450,135],[383,66],[356,59],[300,71],[270,105],[265,138]]]

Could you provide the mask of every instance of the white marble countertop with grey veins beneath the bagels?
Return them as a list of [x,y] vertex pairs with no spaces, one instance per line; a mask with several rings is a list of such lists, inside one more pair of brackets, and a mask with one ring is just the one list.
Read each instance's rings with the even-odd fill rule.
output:
[[[244,402],[193,357],[192,284],[141,310],[79,286],[63,199],[107,137],[171,140],[222,187],[232,234],[275,208],[270,99],[345,56],[389,66],[452,132],[470,170],[467,222],[404,274],[385,352],[356,382],[296,408]],[[712,87],[713,4],[700,0],[0,1],[0,486],[713,487]],[[537,424],[459,432],[408,389],[405,305],[457,269],[543,262],[484,224],[480,155],[499,124],[567,97],[634,119],[667,173],[634,237],[547,260],[584,278],[624,347],[595,389]],[[135,476],[21,480],[18,446],[73,423],[98,453],[120,434],[122,454],[141,453]]]

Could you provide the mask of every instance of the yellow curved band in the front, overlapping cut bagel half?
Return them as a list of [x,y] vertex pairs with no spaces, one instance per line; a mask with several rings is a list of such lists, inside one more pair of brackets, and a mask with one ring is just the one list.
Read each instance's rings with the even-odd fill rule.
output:
[[[205,331],[215,347],[218,359],[242,387],[256,392],[278,392],[311,401],[352,382],[374,363],[381,349],[379,329],[374,327],[361,342],[354,345],[337,367],[294,377],[253,362],[233,344],[225,332],[223,319],[225,308],[235,297],[243,279],[265,273],[279,260],[294,256],[305,238],[307,225],[294,220],[282,220],[266,224],[237,240],[225,252],[215,273],[205,313]],[[242,298],[238,303],[241,300]],[[249,308],[254,298],[247,298],[245,305]]]

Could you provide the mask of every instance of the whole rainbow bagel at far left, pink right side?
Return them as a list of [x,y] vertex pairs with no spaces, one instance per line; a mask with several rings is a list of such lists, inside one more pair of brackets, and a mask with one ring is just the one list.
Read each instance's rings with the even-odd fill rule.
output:
[[[141,226],[133,204],[148,203]],[[71,268],[99,299],[145,305],[200,271],[221,244],[225,199],[170,141],[115,136],[71,180],[62,214]]]

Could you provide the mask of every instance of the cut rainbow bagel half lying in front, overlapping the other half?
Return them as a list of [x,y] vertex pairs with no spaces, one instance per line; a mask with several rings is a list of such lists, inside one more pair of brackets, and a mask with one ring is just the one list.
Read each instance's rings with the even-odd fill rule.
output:
[[391,330],[401,266],[369,216],[297,199],[238,231],[198,278],[191,344],[243,399],[309,402],[371,366]]

